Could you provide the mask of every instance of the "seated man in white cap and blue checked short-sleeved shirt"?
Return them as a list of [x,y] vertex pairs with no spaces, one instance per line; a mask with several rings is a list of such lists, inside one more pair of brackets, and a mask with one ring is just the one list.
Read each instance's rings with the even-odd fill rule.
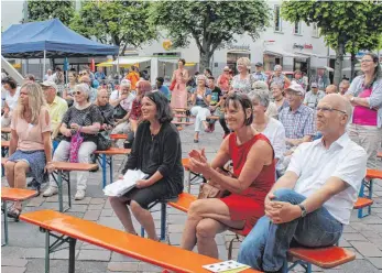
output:
[[290,163],[290,155],[294,150],[304,142],[309,142],[315,135],[315,118],[314,110],[303,105],[305,90],[297,83],[293,81],[288,88],[285,89],[286,99],[290,107],[285,107],[279,113],[279,120],[283,123],[285,129],[285,142],[288,150],[284,155],[283,166],[277,165],[277,171],[283,174],[283,171]]

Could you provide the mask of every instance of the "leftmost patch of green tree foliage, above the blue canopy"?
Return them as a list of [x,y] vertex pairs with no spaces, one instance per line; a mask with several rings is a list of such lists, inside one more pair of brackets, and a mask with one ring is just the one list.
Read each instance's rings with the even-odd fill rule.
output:
[[58,18],[65,25],[69,25],[74,12],[74,1],[28,0],[29,22]]

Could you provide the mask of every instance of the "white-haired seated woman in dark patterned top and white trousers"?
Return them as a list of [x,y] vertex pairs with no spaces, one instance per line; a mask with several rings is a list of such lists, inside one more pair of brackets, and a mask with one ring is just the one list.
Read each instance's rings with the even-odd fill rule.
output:
[[[78,162],[89,163],[90,155],[97,149],[97,133],[102,123],[102,116],[98,106],[89,101],[90,87],[86,84],[79,84],[75,87],[75,103],[70,107],[63,118],[59,128],[61,133],[65,136],[62,140],[53,155],[53,161],[67,161],[70,153],[72,136],[78,132],[84,138],[84,142],[78,150]],[[87,179],[89,172],[77,172],[77,193],[76,200],[85,197]],[[57,194],[57,186],[53,177],[50,181],[50,187],[44,192],[43,196],[52,196]]]

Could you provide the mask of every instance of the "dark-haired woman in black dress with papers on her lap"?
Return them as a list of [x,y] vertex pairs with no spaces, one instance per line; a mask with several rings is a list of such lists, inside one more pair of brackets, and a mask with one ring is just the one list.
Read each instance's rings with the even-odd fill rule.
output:
[[135,188],[122,197],[109,197],[109,200],[127,232],[137,233],[131,210],[149,238],[157,240],[148,207],[155,200],[176,197],[183,192],[182,146],[178,131],[171,123],[173,114],[168,100],[161,92],[149,92],[143,97],[142,118],[122,174],[128,170],[141,170],[149,178],[138,181]]

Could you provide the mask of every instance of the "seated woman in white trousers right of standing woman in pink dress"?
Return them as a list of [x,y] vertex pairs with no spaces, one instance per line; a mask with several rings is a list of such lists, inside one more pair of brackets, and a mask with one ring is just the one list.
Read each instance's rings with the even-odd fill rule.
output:
[[211,90],[206,87],[207,78],[205,75],[197,76],[197,86],[192,90],[192,105],[190,113],[196,116],[195,118],[195,135],[194,143],[199,142],[199,132],[201,125],[206,132],[211,132],[208,128],[207,117],[211,116],[209,110],[209,102],[211,101]]

